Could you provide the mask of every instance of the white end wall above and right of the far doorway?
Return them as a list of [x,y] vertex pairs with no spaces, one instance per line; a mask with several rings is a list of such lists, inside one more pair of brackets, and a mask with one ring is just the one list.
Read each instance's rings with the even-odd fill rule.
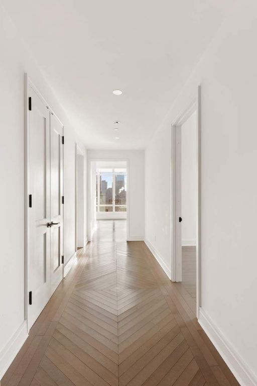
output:
[[[144,240],[145,235],[145,151],[88,150],[87,160],[128,160],[129,240]],[[90,189],[90,186],[88,186]]]

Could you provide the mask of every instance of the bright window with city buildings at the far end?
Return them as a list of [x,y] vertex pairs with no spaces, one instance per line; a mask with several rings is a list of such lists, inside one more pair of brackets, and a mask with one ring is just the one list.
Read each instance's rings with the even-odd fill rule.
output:
[[126,168],[97,168],[96,212],[126,212]]

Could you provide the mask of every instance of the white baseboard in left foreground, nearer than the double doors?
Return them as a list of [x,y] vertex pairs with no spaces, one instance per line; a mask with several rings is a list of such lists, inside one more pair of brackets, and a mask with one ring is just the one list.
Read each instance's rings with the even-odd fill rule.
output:
[[7,345],[0,351],[0,380],[3,378],[28,336],[27,320],[24,320]]

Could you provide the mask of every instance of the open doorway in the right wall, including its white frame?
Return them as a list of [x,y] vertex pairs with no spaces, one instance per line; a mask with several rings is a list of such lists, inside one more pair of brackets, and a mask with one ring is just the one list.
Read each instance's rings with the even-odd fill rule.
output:
[[198,317],[200,307],[200,86],[172,125],[172,281]]

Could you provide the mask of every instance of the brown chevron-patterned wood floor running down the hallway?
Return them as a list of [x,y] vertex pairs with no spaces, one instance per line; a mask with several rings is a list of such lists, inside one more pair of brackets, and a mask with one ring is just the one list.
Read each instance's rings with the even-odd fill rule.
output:
[[95,242],[59,285],[1,386],[235,386],[143,242]]

